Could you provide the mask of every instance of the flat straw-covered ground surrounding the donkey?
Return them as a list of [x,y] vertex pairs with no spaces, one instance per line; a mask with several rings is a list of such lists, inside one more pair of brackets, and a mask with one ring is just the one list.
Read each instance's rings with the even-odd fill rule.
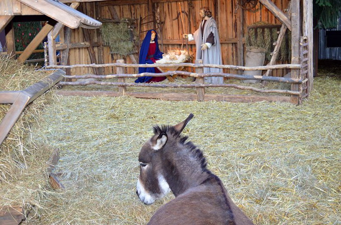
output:
[[[24,150],[30,163],[19,172],[26,175],[0,181],[0,204],[25,203],[31,210],[27,224],[145,224],[174,196],[169,193],[152,205],[138,200],[139,149],[152,135],[152,125],[175,124],[192,112],[184,134],[204,151],[208,168],[255,223],[340,223],[340,90],[341,74],[325,70],[300,106],[54,98],[45,102],[21,145],[2,148],[0,160],[29,143],[35,146]],[[61,159],[55,172],[61,173],[65,190],[51,189],[40,167],[56,147]],[[36,150],[42,155],[37,157]],[[41,179],[27,181],[27,176]]]

